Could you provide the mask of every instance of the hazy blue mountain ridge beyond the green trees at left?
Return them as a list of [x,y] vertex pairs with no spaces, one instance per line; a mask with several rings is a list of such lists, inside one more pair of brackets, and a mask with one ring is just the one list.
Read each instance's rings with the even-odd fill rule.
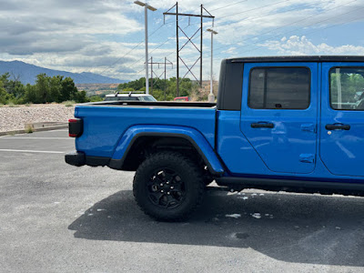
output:
[[35,79],[38,74],[45,73],[47,76],[70,76],[76,84],[121,84],[126,83],[126,80],[116,79],[107,76],[101,76],[94,73],[71,73],[48,69],[40,66],[29,65],[20,61],[5,62],[0,61],[0,75],[9,72],[15,76],[19,76],[19,80],[23,84],[35,84]]

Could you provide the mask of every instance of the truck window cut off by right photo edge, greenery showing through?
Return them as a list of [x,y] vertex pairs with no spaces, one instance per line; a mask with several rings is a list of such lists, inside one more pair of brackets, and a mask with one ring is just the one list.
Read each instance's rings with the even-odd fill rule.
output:
[[364,111],[364,67],[331,68],[329,82],[333,109]]

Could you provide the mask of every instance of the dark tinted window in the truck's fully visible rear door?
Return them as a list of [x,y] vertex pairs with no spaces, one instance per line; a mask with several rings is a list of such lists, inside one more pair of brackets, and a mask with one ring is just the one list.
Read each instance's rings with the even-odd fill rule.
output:
[[308,67],[258,67],[250,71],[248,106],[254,109],[307,109]]

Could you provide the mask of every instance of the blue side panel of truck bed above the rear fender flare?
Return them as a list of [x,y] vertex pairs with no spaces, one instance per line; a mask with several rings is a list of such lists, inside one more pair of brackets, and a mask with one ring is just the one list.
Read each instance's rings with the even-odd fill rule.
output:
[[84,134],[76,150],[92,157],[111,157],[120,137],[132,126],[186,126],[196,129],[215,147],[215,104],[175,102],[101,102],[76,106]]

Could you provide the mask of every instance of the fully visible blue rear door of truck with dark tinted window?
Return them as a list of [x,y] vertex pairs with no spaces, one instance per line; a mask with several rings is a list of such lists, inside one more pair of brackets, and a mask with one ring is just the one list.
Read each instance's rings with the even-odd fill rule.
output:
[[244,65],[240,129],[268,170],[314,170],[317,89],[318,63]]

